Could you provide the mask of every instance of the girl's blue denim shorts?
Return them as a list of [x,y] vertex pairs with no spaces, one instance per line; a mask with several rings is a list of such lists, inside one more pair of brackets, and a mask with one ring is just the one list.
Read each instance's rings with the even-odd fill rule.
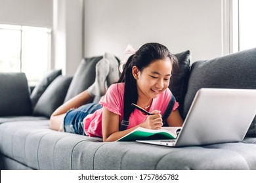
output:
[[89,103],[79,108],[68,110],[63,123],[64,131],[85,135],[83,119],[88,114],[93,114],[93,112],[100,108],[102,108],[102,106],[99,103]]

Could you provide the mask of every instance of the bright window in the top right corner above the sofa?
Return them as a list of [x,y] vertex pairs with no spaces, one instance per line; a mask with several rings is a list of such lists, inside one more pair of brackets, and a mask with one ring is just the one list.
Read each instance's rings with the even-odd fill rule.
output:
[[232,52],[256,47],[256,1],[232,1]]

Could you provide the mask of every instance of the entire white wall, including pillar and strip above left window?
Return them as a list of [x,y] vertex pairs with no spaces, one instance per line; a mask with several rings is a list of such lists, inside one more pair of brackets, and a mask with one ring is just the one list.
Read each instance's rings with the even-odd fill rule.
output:
[[127,44],[191,50],[192,61],[221,56],[224,1],[0,0],[0,24],[53,27],[51,68],[74,75],[83,56],[112,52],[122,59]]

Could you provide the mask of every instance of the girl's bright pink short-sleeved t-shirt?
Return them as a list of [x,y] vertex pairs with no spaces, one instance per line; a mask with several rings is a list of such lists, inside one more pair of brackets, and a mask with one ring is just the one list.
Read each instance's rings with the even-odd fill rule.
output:
[[[114,112],[115,114],[118,114],[119,122],[123,120],[123,96],[124,96],[124,90],[125,90],[125,84],[117,83],[112,84],[110,88],[108,88],[108,91],[106,92],[106,95],[104,97],[104,100],[100,102],[102,107],[107,108],[111,112]],[[171,91],[169,88],[165,90],[164,92],[160,93],[158,97],[154,98],[152,101],[152,105],[150,105],[150,108],[148,111],[152,110],[160,110],[161,115],[165,112],[167,105],[171,99]],[[173,110],[176,110],[179,107],[179,103],[175,101],[175,105],[173,107]],[[136,125],[141,124],[146,120],[147,115],[142,114],[139,110],[135,108],[134,112],[131,113],[131,116],[129,118],[129,126],[127,129],[131,127],[135,127]],[[96,110],[93,114],[89,114],[85,117],[83,120],[84,127],[85,127],[85,134],[90,137],[102,137],[102,108]]]

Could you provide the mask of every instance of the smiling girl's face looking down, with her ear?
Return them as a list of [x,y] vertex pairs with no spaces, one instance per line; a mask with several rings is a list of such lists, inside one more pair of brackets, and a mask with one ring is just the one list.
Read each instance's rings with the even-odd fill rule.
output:
[[169,58],[157,59],[142,71],[134,66],[133,76],[137,80],[138,97],[144,100],[158,97],[169,86],[171,69]]

